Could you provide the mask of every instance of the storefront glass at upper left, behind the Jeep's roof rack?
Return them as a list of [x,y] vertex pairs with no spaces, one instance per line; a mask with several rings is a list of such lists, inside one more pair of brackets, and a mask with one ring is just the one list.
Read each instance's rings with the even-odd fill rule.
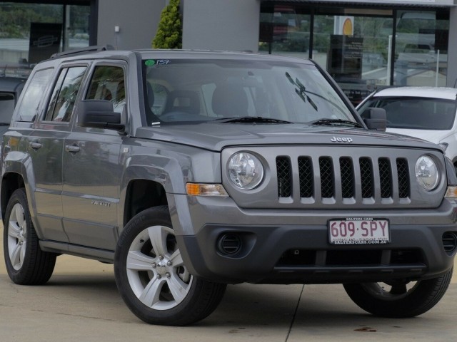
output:
[[0,76],[27,77],[52,53],[89,46],[89,12],[90,6],[0,2]]

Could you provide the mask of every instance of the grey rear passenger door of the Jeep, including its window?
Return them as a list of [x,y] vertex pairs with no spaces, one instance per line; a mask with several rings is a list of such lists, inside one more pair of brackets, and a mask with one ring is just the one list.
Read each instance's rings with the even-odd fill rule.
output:
[[65,138],[71,132],[69,123],[86,69],[86,65],[60,68],[42,117],[27,138],[27,150],[33,165],[36,219],[44,239],[69,241],[61,222],[62,154]]

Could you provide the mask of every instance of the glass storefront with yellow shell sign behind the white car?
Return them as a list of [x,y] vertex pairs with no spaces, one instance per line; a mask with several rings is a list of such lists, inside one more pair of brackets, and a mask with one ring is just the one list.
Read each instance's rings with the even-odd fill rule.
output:
[[442,9],[267,1],[259,51],[313,58],[357,104],[380,86],[446,86],[448,29]]

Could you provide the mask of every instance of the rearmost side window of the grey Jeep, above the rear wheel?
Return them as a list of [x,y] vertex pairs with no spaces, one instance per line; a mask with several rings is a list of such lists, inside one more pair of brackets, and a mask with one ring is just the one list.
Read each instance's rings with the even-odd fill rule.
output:
[[54,69],[39,70],[32,76],[29,86],[24,90],[19,110],[19,121],[31,122],[34,120],[38,110],[41,96],[48,86]]

